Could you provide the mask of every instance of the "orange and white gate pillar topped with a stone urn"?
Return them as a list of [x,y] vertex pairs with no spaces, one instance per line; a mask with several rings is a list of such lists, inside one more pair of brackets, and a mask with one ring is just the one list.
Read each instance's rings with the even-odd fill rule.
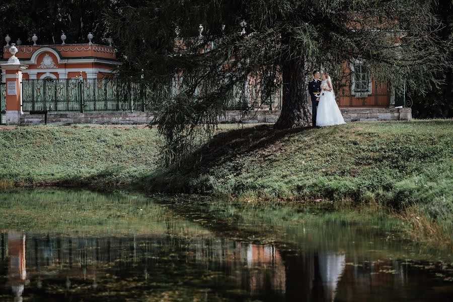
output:
[[5,72],[6,83],[6,113],[5,123],[7,125],[19,125],[22,114],[22,71],[28,66],[21,64],[15,56],[17,48],[11,44],[10,52],[13,54],[8,63],[0,67]]

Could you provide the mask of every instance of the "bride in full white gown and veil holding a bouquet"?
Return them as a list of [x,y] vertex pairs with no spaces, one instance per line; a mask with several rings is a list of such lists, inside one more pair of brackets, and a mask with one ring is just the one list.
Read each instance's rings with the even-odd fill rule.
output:
[[332,89],[332,81],[327,72],[323,72],[321,77],[321,96],[319,98],[318,114],[316,115],[316,125],[320,127],[345,124]]

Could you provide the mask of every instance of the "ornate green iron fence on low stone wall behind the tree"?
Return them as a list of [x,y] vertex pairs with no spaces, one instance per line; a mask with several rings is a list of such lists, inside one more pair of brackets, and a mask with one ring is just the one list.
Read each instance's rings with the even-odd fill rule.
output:
[[[203,88],[201,88],[203,89]],[[178,84],[152,85],[125,78],[23,80],[22,110],[48,112],[156,111],[182,91]],[[195,95],[200,93],[195,91]],[[265,96],[259,85],[238,83],[228,110],[279,110],[281,89]]]

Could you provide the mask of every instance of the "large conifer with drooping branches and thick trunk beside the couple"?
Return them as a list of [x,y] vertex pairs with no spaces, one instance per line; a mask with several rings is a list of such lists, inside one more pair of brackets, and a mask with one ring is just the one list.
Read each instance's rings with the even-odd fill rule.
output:
[[[157,120],[172,151],[183,154],[199,125],[215,125],[232,87],[250,74],[268,90],[282,85],[279,129],[310,123],[305,83],[318,66],[338,76],[344,63],[360,60],[376,80],[426,93],[431,75],[450,66],[436,6],[434,0],[147,0],[124,4],[108,23],[128,66],[144,69],[145,79],[183,74],[184,93],[168,100]],[[204,31],[195,38],[200,24]],[[175,41],[184,42],[182,50]]]

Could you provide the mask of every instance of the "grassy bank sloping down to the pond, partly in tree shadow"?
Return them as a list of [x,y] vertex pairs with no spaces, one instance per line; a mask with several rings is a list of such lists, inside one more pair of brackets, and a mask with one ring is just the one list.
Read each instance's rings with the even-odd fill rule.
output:
[[414,235],[453,238],[453,121],[274,131],[221,126],[187,164],[163,170],[155,129],[0,127],[3,186],[74,185],[391,206]]

